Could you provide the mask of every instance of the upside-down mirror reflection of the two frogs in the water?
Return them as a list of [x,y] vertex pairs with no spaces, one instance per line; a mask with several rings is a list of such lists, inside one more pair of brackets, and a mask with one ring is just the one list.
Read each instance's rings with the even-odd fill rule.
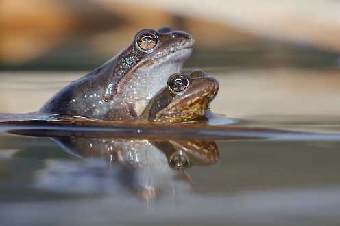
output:
[[[186,169],[216,164],[215,142],[195,140],[115,140],[98,138],[53,138],[79,158],[101,158],[112,167],[123,167],[117,181],[143,199],[189,190]],[[126,183],[126,181],[129,181]]]

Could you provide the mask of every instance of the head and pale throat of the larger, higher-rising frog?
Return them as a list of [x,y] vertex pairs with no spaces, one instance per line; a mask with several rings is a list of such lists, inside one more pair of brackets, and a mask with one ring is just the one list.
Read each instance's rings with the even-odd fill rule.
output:
[[115,58],[104,100],[119,95],[141,113],[168,77],[181,70],[194,42],[190,34],[167,27],[138,32],[132,44]]

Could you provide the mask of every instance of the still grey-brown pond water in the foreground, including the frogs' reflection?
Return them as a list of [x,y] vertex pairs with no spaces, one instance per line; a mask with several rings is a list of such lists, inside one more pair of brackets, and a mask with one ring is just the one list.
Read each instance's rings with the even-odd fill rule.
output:
[[340,224],[339,131],[211,121],[1,123],[1,225]]

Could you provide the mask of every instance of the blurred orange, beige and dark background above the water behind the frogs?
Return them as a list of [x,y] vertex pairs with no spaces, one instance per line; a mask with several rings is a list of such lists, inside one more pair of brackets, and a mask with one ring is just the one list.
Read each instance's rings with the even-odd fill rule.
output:
[[213,110],[236,118],[340,114],[340,2],[333,0],[2,0],[0,112],[38,110],[69,81],[170,26],[196,40],[185,71],[221,89]]

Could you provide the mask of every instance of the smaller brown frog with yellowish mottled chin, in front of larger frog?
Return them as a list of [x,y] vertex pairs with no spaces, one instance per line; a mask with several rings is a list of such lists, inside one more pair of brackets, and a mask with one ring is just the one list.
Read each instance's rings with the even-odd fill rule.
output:
[[141,119],[147,121],[195,121],[204,118],[219,90],[219,82],[203,71],[175,73],[167,86],[150,101]]

